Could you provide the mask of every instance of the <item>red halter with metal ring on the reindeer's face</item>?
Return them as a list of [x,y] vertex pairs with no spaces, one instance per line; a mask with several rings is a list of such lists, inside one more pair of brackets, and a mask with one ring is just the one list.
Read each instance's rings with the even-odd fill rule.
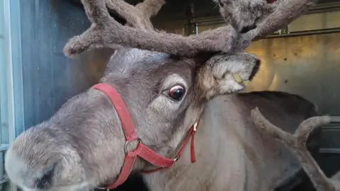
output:
[[[152,163],[152,165],[159,167],[154,170],[144,170],[142,171],[143,173],[154,173],[158,170],[162,170],[163,168],[171,167],[174,164],[174,162],[178,161],[179,158],[181,157],[181,154],[183,153],[184,148],[188,143],[190,137],[191,137],[191,163],[196,162],[194,135],[198,125],[197,122],[189,129],[188,134],[186,135],[186,139],[184,139],[181,149],[179,150],[179,153],[176,155],[176,158],[174,159],[165,158],[164,156],[161,156],[156,152],[152,151],[152,149],[149,149],[147,146],[145,146],[145,144],[142,144],[142,141],[135,132],[135,127],[131,120],[128,109],[126,108],[123,99],[121,98],[120,94],[115,90],[115,88],[108,85],[107,83],[98,83],[94,85],[92,88],[102,91],[103,93],[106,94],[106,96],[108,96],[108,98],[110,98],[111,103],[113,104],[115,110],[118,113],[118,117],[120,119],[120,123],[122,125],[126,140],[124,145],[125,159],[123,167],[120,170],[120,174],[118,175],[118,179],[115,180],[113,184],[108,185],[103,189],[109,190],[118,187],[118,185],[123,184],[125,180],[128,179],[128,176],[130,175],[130,171],[132,170],[132,166],[135,163],[137,156],[143,158],[145,161],[148,161],[149,163]],[[128,145],[132,141],[138,141],[137,148],[134,151],[128,151]]]

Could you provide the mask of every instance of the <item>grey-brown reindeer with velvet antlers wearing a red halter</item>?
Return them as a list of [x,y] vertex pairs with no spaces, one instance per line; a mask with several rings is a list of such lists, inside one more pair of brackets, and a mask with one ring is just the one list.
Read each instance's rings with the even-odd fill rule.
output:
[[[149,189],[157,191],[284,185],[301,166],[283,144],[255,127],[250,110],[258,106],[294,132],[317,115],[314,105],[288,93],[232,93],[259,70],[259,58],[244,48],[311,6],[295,1],[272,5],[252,29],[239,22],[237,28],[183,37],[153,28],[149,18],[164,0],[136,6],[82,0],[92,25],[67,42],[65,54],[98,47],[115,53],[100,83],[17,137],[5,157],[8,177],[25,191],[113,189],[130,173],[144,173]],[[126,24],[115,21],[108,8]],[[273,17],[283,9],[284,17]],[[318,139],[311,139],[311,150]]]

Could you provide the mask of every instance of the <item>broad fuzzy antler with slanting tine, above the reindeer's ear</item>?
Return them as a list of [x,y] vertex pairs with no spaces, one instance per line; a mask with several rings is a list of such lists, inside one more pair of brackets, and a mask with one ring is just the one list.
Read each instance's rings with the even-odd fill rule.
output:
[[[220,13],[242,37],[238,51],[244,50],[252,40],[270,35],[301,16],[317,0],[213,0],[220,6]],[[242,42],[247,42],[242,45]],[[241,44],[240,44],[241,43]],[[237,51],[234,50],[234,51]]]

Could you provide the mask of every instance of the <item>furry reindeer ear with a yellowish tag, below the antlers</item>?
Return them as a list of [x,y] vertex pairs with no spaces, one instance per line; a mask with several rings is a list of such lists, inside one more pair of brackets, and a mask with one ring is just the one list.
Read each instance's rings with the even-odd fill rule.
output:
[[215,55],[198,69],[197,89],[200,96],[210,99],[244,89],[259,70],[260,60],[254,54]]

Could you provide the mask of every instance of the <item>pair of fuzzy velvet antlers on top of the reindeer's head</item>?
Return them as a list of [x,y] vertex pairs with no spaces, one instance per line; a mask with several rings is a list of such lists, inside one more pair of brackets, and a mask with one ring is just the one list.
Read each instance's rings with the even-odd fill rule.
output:
[[[73,37],[64,47],[72,57],[96,47],[113,49],[125,46],[142,50],[196,57],[202,52],[230,53],[243,51],[253,39],[273,33],[304,13],[317,0],[279,0],[267,4],[265,0],[214,0],[231,25],[184,37],[154,30],[150,17],[156,15],[164,0],[145,0],[132,6],[123,0],[81,0],[91,27]],[[108,8],[127,21],[121,25]]]

